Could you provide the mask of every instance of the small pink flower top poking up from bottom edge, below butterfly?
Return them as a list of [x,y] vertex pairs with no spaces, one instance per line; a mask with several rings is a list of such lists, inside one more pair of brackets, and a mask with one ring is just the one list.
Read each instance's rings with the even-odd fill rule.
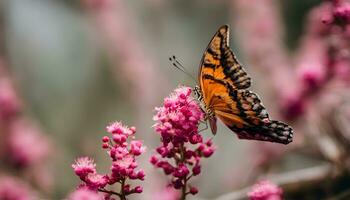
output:
[[277,185],[264,180],[256,183],[248,193],[250,200],[282,200],[283,191]]

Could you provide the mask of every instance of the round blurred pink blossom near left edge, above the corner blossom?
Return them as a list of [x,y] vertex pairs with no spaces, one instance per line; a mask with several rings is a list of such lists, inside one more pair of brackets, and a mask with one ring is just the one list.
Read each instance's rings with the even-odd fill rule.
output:
[[50,142],[33,123],[17,120],[10,126],[8,138],[9,159],[16,165],[27,167],[42,163],[50,154]]

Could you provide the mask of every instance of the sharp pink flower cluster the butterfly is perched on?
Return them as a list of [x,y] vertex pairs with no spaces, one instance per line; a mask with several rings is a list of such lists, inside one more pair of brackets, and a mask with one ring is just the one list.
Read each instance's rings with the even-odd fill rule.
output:
[[[182,189],[183,197],[196,194],[198,189],[187,186],[192,176],[201,172],[200,160],[214,153],[211,140],[204,141],[198,133],[199,122],[204,113],[195,99],[191,88],[179,87],[167,98],[164,105],[156,108],[155,131],[161,136],[161,146],[150,162],[172,177],[171,185]],[[188,187],[188,188],[187,188]]]

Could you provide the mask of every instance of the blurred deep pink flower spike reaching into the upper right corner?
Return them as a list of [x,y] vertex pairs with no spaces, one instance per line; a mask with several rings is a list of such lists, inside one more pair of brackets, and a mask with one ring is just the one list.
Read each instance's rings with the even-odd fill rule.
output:
[[[282,99],[282,114],[296,119],[308,111],[310,99],[331,83],[350,84],[350,3],[323,2],[308,17],[297,57],[297,87]],[[322,93],[321,93],[322,92]]]

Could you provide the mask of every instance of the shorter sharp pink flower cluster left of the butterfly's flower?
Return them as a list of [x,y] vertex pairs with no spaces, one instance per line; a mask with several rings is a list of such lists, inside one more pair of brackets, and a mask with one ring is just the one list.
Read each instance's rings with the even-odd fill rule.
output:
[[[96,172],[96,164],[91,158],[78,158],[72,165],[74,172],[84,182],[84,186],[93,191],[101,191],[107,195],[115,194],[121,199],[133,193],[141,193],[142,187],[132,187],[127,184],[128,179],[144,180],[145,172],[136,170],[136,157],[140,156],[145,147],[139,140],[131,140],[128,143],[128,138],[134,138],[136,132],[135,127],[128,128],[120,122],[114,122],[107,126],[107,132],[112,134],[112,137],[104,136],[102,138],[102,148],[108,150],[108,155],[112,160],[111,173],[101,175]],[[120,192],[108,191],[105,189],[107,185],[121,184]]]

